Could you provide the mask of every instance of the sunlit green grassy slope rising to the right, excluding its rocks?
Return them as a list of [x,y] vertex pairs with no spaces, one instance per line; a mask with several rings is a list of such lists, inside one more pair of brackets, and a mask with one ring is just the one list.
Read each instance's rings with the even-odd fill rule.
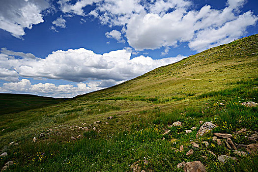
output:
[[[117,86],[1,115],[0,153],[8,156],[0,159],[0,166],[12,160],[10,171],[132,172],[130,167],[138,165],[145,172],[182,172],[178,163],[201,161],[208,172],[255,172],[257,155],[240,157],[225,140],[218,144],[212,137],[214,132],[229,133],[235,144],[257,143],[248,137],[258,131],[258,107],[241,105],[257,102],[257,87],[258,35],[252,35]],[[200,120],[217,127],[196,138]],[[171,126],[176,121],[182,127]],[[192,127],[197,130],[186,134]],[[234,134],[242,128],[247,132]],[[40,133],[45,136],[39,138]],[[174,150],[181,145],[183,151]],[[194,153],[188,156],[190,149]],[[208,151],[238,161],[223,164]]]

